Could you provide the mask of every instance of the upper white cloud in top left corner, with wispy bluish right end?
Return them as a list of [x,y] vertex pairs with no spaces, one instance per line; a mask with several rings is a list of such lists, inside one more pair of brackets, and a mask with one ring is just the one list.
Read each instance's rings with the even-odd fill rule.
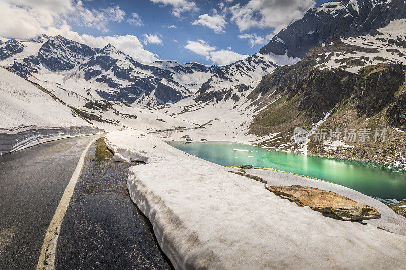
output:
[[[62,25],[77,25],[107,32],[110,21],[121,22],[125,12],[118,6],[99,10],[84,7],[78,0],[2,0],[0,35],[4,37],[29,38],[59,28]],[[54,30],[54,29],[53,29]]]

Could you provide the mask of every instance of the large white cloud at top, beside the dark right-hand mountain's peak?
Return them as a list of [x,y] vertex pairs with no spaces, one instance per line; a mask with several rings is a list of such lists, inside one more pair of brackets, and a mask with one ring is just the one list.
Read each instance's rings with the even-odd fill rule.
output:
[[258,27],[279,32],[294,19],[303,17],[315,4],[315,0],[250,0],[245,5],[230,6],[228,11],[240,31]]

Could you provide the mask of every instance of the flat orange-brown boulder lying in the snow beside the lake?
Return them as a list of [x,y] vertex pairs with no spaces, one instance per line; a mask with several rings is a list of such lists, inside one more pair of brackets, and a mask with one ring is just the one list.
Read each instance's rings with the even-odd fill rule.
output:
[[375,208],[327,190],[300,185],[270,186],[266,189],[299,206],[307,205],[314,211],[335,219],[361,221],[381,217]]

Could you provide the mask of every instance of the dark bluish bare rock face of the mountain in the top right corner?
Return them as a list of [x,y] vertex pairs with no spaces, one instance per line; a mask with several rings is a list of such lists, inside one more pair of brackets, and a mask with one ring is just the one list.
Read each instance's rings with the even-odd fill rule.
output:
[[327,2],[275,35],[259,52],[303,58],[309,49],[335,35],[356,37],[374,33],[391,20],[406,18],[403,0]]

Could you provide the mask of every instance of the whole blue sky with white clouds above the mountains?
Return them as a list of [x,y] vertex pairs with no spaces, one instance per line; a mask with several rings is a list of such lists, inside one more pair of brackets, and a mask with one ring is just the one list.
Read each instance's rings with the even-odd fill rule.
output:
[[[301,17],[308,8],[326,2],[5,1],[6,4],[2,5],[8,6],[0,5],[0,17],[9,16],[8,20],[18,20],[18,15],[26,12],[25,17],[29,14],[32,22],[21,27],[20,20],[19,29],[13,28],[12,23],[6,25],[0,29],[3,37],[28,38],[40,33],[61,34],[90,46],[103,46],[110,42],[140,62],[162,59],[204,64],[227,64],[258,52],[290,21]],[[36,28],[31,29],[32,25]]]

